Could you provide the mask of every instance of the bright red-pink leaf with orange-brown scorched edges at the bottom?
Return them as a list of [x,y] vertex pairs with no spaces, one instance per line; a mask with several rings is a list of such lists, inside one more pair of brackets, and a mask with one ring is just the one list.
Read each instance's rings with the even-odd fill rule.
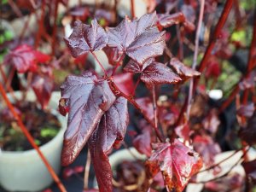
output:
[[174,143],[157,143],[154,148],[146,161],[148,171],[152,177],[161,171],[168,189],[182,192],[190,177],[201,169],[201,157],[177,139]]

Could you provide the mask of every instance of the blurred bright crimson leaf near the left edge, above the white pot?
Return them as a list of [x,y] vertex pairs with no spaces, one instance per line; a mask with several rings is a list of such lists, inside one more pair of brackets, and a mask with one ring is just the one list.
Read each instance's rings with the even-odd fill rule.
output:
[[38,62],[49,61],[49,55],[45,55],[27,44],[22,44],[9,52],[5,57],[6,65],[13,65],[18,73],[26,71],[35,72]]

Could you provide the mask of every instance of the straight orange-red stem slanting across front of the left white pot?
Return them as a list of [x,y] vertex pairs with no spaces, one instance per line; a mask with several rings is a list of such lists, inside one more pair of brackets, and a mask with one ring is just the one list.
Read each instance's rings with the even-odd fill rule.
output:
[[1,95],[3,96],[3,100],[6,102],[9,110],[15,116],[15,119],[17,120],[17,123],[20,126],[21,131],[26,136],[28,142],[31,143],[32,147],[35,148],[36,151],[38,152],[41,160],[43,160],[44,165],[48,169],[49,174],[55,180],[55,183],[57,184],[58,188],[61,190],[61,192],[67,192],[67,190],[65,189],[64,185],[61,183],[60,178],[56,175],[54,169],[49,165],[48,160],[46,160],[46,158],[44,157],[44,154],[42,154],[42,152],[38,148],[38,145],[34,142],[34,139],[33,139],[32,135],[29,133],[29,131],[27,131],[26,126],[23,124],[22,120],[20,119],[20,115],[18,113],[16,113],[15,108],[12,105],[12,103],[9,101],[9,98],[6,95],[5,90],[3,89],[3,85],[2,84],[0,84],[0,92],[1,92]]

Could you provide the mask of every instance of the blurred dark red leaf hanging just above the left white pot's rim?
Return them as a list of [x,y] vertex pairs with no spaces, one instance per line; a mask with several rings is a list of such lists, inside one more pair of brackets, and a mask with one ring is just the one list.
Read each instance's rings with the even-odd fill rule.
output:
[[34,74],[32,89],[38,98],[38,102],[40,102],[41,107],[44,109],[48,105],[51,92],[54,90],[54,81],[47,75]]

